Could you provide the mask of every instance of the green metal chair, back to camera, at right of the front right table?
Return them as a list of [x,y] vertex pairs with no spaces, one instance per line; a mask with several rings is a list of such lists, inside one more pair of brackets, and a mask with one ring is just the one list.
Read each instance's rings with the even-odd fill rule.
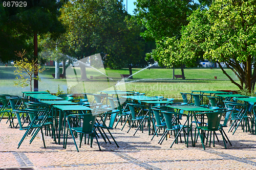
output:
[[[209,147],[211,144],[212,132],[215,133],[216,131],[220,131],[220,133],[222,135],[223,142],[224,142],[224,147],[225,147],[225,149],[227,149],[225,138],[223,136],[223,131],[222,131],[222,128],[220,128],[220,121],[221,121],[223,113],[224,113],[223,111],[195,113],[195,115],[194,115],[195,122],[198,122],[198,116],[203,117],[203,118],[205,115],[207,116],[207,124],[205,126],[200,126],[198,123],[196,123],[197,128],[195,129],[195,138],[196,138],[196,130],[198,130],[198,134],[200,136],[201,143],[203,145],[204,150],[205,150],[205,146],[204,146],[205,138],[207,139],[206,143],[208,142],[208,137],[205,137],[206,131],[210,132]],[[201,131],[201,133],[200,133],[200,131]],[[214,138],[213,146],[215,147],[215,134],[214,134],[213,138]]]

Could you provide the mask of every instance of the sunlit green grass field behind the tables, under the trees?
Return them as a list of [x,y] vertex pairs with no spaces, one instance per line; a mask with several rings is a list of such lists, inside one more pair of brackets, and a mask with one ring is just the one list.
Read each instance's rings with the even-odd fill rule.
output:
[[[13,70],[15,68],[8,66],[0,67],[0,93],[8,93],[15,95],[22,95],[22,91],[29,91],[29,87],[22,88],[14,86],[15,75]],[[134,68],[133,74],[142,70],[141,68]],[[60,72],[62,69],[60,69]],[[99,90],[105,90],[121,80],[120,74],[129,74],[129,69],[123,68],[120,70],[101,69],[103,74],[113,78],[107,80],[106,77],[100,74],[98,71],[87,68],[87,77],[93,76],[90,81],[80,81],[75,79],[74,74],[68,72],[69,77],[67,79],[53,79],[52,74],[55,73],[54,67],[47,67],[47,70],[41,77],[39,82],[39,91],[50,90],[51,92],[57,92],[59,85],[60,89],[67,92],[68,87],[74,87],[74,92],[96,92]],[[226,70],[234,80],[238,80],[231,70]],[[71,71],[72,72],[72,71]],[[79,78],[80,70],[76,69],[77,77]],[[180,69],[175,69],[176,75],[181,75]],[[173,80],[173,69],[151,68],[143,69],[133,76],[134,80],[125,80],[120,82],[119,89],[126,89],[129,91],[144,92],[148,96],[163,95],[165,98],[181,99],[180,92],[190,92],[190,90],[239,90],[238,87],[232,84],[227,77],[222,73],[221,69],[209,69],[209,68],[196,68],[196,69],[184,69],[186,80],[175,79]],[[217,80],[214,77],[217,76]],[[148,80],[150,79],[150,80]]]

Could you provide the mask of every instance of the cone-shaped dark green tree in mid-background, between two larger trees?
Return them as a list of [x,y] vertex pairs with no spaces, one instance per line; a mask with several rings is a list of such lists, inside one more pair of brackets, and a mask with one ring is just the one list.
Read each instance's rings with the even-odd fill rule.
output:
[[107,46],[108,55],[103,60],[106,66],[110,68],[128,67],[131,76],[134,66],[148,65],[145,61],[145,53],[151,47],[146,48],[150,42],[146,43],[140,36],[142,28],[135,17],[131,15],[125,17],[120,36],[110,41],[111,43]]

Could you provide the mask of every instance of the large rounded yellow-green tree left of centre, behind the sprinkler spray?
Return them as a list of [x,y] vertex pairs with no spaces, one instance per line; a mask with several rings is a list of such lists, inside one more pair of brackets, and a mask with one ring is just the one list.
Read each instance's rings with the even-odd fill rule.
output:
[[[60,11],[67,33],[58,40],[58,48],[78,60],[108,54],[106,45],[119,36],[125,18],[122,1],[116,0],[70,1]],[[87,80],[86,67],[80,68],[81,79]]]

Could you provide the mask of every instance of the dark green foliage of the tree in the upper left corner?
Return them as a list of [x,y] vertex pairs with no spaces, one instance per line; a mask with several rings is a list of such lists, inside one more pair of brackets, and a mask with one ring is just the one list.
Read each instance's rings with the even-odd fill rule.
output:
[[[33,37],[49,34],[56,39],[65,31],[58,20],[59,8],[64,1],[27,1],[26,7],[3,7],[0,5],[0,60],[18,59],[15,51],[26,49],[33,52]],[[38,49],[40,50],[40,49]]]

